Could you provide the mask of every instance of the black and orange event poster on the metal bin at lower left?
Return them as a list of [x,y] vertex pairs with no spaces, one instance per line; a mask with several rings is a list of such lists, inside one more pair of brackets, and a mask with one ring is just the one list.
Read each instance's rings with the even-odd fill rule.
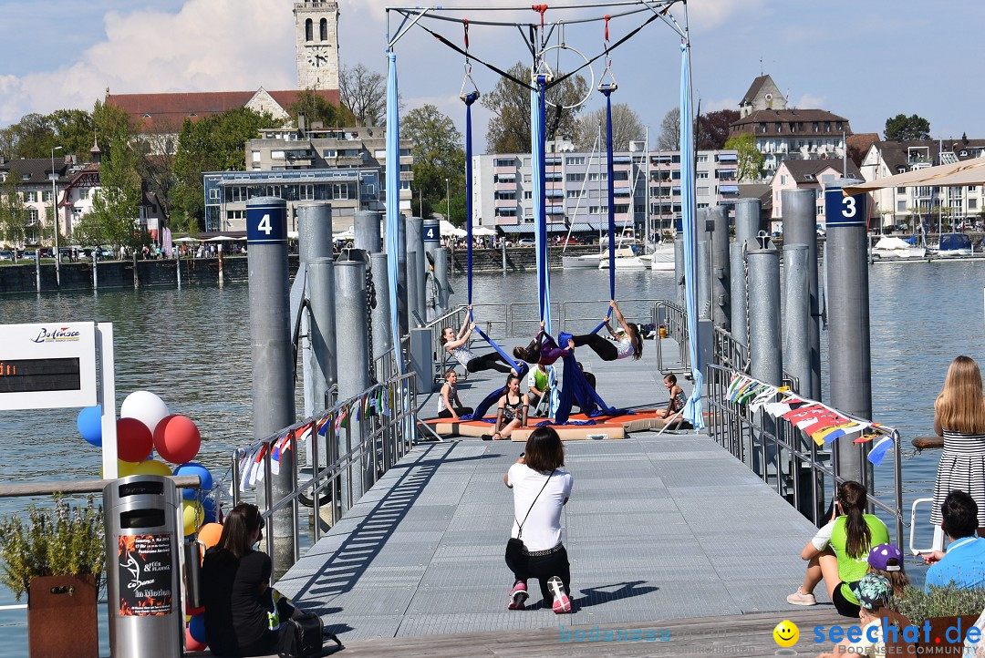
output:
[[119,537],[120,617],[171,613],[171,541],[169,534]]

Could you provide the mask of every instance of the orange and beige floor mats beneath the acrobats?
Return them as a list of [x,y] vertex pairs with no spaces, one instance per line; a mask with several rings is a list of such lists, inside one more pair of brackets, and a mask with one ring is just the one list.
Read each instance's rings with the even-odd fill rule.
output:
[[[489,416],[489,420],[494,421],[494,416]],[[510,439],[515,442],[526,442],[530,433],[534,431],[536,424],[542,422],[543,418],[531,418],[532,427],[521,430],[514,430],[510,434]],[[643,409],[632,414],[622,416],[598,416],[588,418],[584,414],[572,414],[569,420],[588,421],[594,420],[593,425],[552,425],[557,430],[561,441],[581,441],[587,439],[624,439],[630,432],[643,432],[646,430],[659,430],[664,426],[664,419],[657,416],[653,409]],[[481,437],[484,434],[493,434],[493,424],[480,420],[451,420],[448,418],[435,418],[426,421],[433,430],[442,437]]]

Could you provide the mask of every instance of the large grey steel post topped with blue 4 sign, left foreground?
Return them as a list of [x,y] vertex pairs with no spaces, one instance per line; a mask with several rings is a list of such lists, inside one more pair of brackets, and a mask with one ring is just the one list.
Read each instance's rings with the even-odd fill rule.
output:
[[[246,202],[246,240],[249,247],[249,324],[253,365],[253,437],[262,439],[289,425],[295,418],[294,348],[291,344],[288,292],[287,202],[258,197]],[[294,489],[294,451],[281,457],[272,476],[272,501],[257,488],[261,508]],[[274,577],[294,563],[294,522],[291,506],[274,514]]]

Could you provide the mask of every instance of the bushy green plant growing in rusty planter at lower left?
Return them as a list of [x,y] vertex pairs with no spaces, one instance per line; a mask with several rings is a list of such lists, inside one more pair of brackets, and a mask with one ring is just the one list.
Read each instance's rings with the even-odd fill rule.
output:
[[85,506],[72,508],[59,495],[54,507],[28,508],[0,520],[0,581],[17,600],[28,591],[31,579],[42,575],[99,576],[105,563],[102,508],[90,496]]

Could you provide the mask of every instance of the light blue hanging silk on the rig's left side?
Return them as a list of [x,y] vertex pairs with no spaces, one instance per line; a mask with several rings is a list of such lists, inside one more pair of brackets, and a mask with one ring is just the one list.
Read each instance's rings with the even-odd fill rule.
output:
[[400,264],[397,260],[404,236],[400,231],[400,105],[397,93],[397,53],[391,48],[386,53],[389,70],[386,85],[386,269],[390,278],[390,332],[397,351],[397,372],[404,374],[404,362],[400,352],[400,315],[397,300],[397,278]]

